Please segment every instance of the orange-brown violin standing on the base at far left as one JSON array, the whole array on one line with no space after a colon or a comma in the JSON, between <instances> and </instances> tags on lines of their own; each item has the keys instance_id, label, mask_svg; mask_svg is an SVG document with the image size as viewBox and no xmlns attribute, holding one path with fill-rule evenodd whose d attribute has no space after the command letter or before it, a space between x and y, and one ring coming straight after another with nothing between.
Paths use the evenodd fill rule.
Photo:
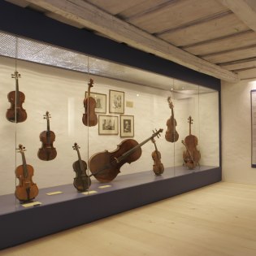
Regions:
<instances>
[{"instance_id":1,"label":"orange-brown violin standing on the base at far left","mask_svg":"<svg viewBox=\"0 0 256 256\"><path fill-rule=\"evenodd\" d=\"M15 197L20 200L20 202L28 202L37 197L38 188L37 184L33 183L32 176L34 174L34 169L31 165L26 163L25 158L25 148L23 145L19 145L19 152L22 156L22 165L18 166L15 170L15 175L19 179L19 184L15 189Z\"/></svg>"}]
</instances>

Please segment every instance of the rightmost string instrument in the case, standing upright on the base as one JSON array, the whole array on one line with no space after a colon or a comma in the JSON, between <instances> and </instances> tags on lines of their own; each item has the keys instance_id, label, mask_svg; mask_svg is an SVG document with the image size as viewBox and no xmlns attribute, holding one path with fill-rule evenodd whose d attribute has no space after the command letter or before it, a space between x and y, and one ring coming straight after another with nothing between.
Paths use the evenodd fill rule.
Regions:
<instances>
[{"instance_id":1,"label":"rightmost string instrument in the case, standing upright on the base","mask_svg":"<svg viewBox=\"0 0 256 256\"><path fill-rule=\"evenodd\" d=\"M197 150L198 139L196 136L191 134L191 124L193 124L191 116L189 116L188 122L189 136L185 137L184 141L181 142L186 148L183 152L184 166L188 167L189 170L193 170L197 165L199 165L201 154L200 151Z\"/></svg>"}]
</instances>

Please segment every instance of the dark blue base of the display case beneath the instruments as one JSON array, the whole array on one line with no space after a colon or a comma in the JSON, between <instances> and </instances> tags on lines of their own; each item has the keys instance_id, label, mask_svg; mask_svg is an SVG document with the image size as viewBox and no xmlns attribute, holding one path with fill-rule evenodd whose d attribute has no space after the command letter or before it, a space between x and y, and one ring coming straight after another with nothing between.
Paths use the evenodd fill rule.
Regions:
<instances>
[{"instance_id":1,"label":"dark blue base of the display case beneath the instruments","mask_svg":"<svg viewBox=\"0 0 256 256\"><path fill-rule=\"evenodd\" d=\"M0 197L0 249L115 215L161 199L197 189L221 180L220 167L200 167L189 171L184 167L167 168L162 176L153 171L117 176L108 185L93 181L85 195L72 184L40 189L37 202L41 206L24 208L14 194ZM56 195L46 193L62 191Z\"/></svg>"}]
</instances>

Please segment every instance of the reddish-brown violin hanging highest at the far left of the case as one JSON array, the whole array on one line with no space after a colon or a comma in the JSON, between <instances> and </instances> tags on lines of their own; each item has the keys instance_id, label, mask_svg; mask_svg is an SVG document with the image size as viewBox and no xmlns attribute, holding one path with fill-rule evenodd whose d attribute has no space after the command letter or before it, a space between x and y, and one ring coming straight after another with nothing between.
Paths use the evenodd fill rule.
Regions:
<instances>
[{"instance_id":1,"label":"reddish-brown violin hanging highest at the far left of the case","mask_svg":"<svg viewBox=\"0 0 256 256\"><path fill-rule=\"evenodd\" d=\"M13 123L21 123L27 119L27 112L22 107L25 101L25 94L19 90L19 72L11 74L12 78L15 78L15 91L8 93L7 98L11 103L11 107L7 109L7 120Z\"/></svg>"}]
</instances>

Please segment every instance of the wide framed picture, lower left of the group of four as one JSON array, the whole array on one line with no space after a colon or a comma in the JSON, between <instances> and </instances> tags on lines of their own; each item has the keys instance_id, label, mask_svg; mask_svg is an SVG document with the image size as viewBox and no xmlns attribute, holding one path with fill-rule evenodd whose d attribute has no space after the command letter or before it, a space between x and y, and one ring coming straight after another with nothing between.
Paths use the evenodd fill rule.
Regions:
<instances>
[{"instance_id":1,"label":"wide framed picture, lower left of the group of four","mask_svg":"<svg viewBox=\"0 0 256 256\"><path fill-rule=\"evenodd\" d=\"M98 134L117 135L119 133L118 116L98 115Z\"/></svg>"}]
</instances>

